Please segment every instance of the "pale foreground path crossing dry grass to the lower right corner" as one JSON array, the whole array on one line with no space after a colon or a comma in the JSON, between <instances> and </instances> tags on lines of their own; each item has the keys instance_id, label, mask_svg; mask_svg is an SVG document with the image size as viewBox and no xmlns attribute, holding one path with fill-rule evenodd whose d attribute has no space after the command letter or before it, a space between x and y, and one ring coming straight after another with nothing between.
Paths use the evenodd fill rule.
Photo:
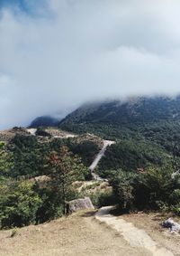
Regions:
<instances>
[{"instance_id":1,"label":"pale foreground path crossing dry grass to the lower right corner","mask_svg":"<svg viewBox=\"0 0 180 256\"><path fill-rule=\"evenodd\" d=\"M98 221L106 223L111 226L113 230L120 232L125 241L129 242L132 248L146 249L151 252L153 256L174 256L171 251L165 247L159 247L157 242L154 242L148 233L128 223L122 218L117 218L109 212L112 206L103 207L96 213L95 217Z\"/></svg>"}]
</instances>

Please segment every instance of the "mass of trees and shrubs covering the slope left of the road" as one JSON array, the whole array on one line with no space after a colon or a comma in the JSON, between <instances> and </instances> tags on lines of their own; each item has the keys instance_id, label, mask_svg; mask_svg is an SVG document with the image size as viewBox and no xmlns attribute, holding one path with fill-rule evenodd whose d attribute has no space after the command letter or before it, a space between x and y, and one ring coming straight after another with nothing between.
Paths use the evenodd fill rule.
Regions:
<instances>
[{"instance_id":1,"label":"mass of trees and shrubs covering the slope left of the road","mask_svg":"<svg viewBox=\"0 0 180 256\"><path fill-rule=\"evenodd\" d=\"M78 195L72 183L91 178L67 145L81 152L70 139L42 142L17 135L9 144L0 144L1 228L41 223L66 212L66 202ZM33 178L37 176L39 182Z\"/></svg>"}]
</instances>

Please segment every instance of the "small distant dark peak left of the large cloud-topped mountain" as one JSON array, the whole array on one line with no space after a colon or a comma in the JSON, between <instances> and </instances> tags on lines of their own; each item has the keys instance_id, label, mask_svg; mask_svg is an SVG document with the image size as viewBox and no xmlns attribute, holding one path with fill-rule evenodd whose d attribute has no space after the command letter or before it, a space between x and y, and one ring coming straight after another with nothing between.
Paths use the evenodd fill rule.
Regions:
<instances>
[{"instance_id":1,"label":"small distant dark peak left of the large cloud-topped mountain","mask_svg":"<svg viewBox=\"0 0 180 256\"><path fill-rule=\"evenodd\" d=\"M58 119L54 119L50 116L41 116L32 120L29 128L39 128L39 127L56 127L58 126Z\"/></svg>"}]
</instances>

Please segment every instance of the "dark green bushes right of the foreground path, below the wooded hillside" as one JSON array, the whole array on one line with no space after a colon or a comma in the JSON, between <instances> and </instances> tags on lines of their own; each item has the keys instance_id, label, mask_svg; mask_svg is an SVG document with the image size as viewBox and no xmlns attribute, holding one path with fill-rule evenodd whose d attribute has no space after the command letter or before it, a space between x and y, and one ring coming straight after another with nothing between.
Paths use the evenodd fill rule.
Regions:
<instances>
[{"instance_id":1,"label":"dark green bushes right of the foreground path, below the wooded hillside","mask_svg":"<svg viewBox=\"0 0 180 256\"><path fill-rule=\"evenodd\" d=\"M168 166L150 167L142 174L111 171L109 178L121 210L176 209L178 212L179 176L173 178L172 170Z\"/></svg>"}]
</instances>

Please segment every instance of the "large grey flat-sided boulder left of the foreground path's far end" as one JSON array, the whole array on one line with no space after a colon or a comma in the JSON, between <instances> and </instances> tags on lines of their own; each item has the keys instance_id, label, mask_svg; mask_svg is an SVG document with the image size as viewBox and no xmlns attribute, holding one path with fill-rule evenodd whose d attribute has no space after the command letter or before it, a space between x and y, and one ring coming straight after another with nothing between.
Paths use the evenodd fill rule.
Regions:
<instances>
[{"instance_id":1,"label":"large grey flat-sided boulder left of the foreground path's far end","mask_svg":"<svg viewBox=\"0 0 180 256\"><path fill-rule=\"evenodd\" d=\"M94 205L89 197L79 198L68 202L68 213L76 213L84 209L94 209Z\"/></svg>"}]
</instances>

